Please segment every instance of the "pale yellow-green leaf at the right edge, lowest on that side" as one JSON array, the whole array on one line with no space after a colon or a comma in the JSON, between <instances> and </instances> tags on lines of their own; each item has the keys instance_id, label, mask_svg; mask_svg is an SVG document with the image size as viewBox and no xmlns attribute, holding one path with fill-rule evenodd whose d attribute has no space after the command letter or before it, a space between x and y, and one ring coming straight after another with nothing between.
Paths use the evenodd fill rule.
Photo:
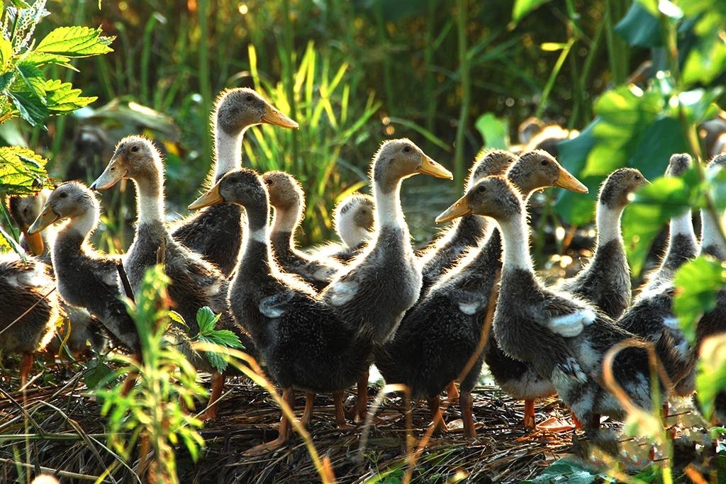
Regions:
<instances>
[{"instance_id":1,"label":"pale yellow-green leaf at the right edge, lowest on that side","mask_svg":"<svg viewBox=\"0 0 726 484\"><path fill-rule=\"evenodd\" d=\"M726 390L726 335L715 335L701 344L696 375L696 396L706 419L711 419L714 400L723 390Z\"/></svg>"}]
</instances>

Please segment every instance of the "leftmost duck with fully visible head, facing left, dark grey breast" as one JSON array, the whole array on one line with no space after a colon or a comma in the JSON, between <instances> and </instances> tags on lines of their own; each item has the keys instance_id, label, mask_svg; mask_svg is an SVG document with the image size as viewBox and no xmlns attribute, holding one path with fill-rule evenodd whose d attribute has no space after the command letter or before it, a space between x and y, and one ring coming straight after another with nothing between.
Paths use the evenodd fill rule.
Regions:
<instances>
[{"instance_id":1,"label":"leftmost duck with fully visible head, facing left, dark grey breast","mask_svg":"<svg viewBox=\"0 0 726 484\"><path fill-rule=\"evenodd\" d=\"M68 219L57 232L51 257L58 292L66 303L86 308L107 330L115 343L131 352L139 350L139 335L126 312L118 286L120 258L98 253L89 244L97 228L99 203L85 185L60 184L48 197L28 232L37 234L56 221Z\"/></svg>"}]
</instances>

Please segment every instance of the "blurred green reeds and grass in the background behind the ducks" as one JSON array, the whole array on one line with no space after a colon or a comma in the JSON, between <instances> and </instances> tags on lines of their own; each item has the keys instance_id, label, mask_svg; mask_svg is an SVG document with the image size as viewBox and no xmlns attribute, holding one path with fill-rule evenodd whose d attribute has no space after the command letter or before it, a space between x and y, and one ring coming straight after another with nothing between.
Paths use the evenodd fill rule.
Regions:
<instances>
[{"instance_id":1,"label":"blurred green reeds and grass in the background behind the ducks","mask_svg":"<svg viewBox=\"0 0 726 484\"><path fill-rule=\"evenodd\" d=\"M2 125L1 135L48 157L56 179L89 181L121 136L144 132L166 149L170 213L185 213L210 166L213 99L225 87L256 86L301 130L253 128L243 163L260 171L285 168L301 179L309 199L301 245L331 237L330 209L364 186L380 141L400 136L456 176L454 184L420 180L404 189L412 232L423 243L435 230L433 216L457 196L482 147L514 144L519 124L532 115L582 130L603 93L624 85L642 62L667 60L657 12L650 15L654 28L643 21L647 1L516 3L524 10L513 17L513 3L505 0L126 0L100 6L49 0L38 38L59 25L100 26L116 37L114 52L76 62L79 72L60 73L99 99L73 116L50 118L47 131L31 131L21 121ZM716 22L726 18L719 2L706 4L719 15ZM616 31L633 10L641 15L635 27ZM680 22L679 29L679 43L693 44L693 22ZM724 81L717 72L691 85L713 88ZM714 89L708 102L723 104L722 91ZM571 149L563 163L576 174L587 171L590 148L579 147L578 156ZM666 163L656 153L637 164L662 173ZM607 174L601 172L590 166L585 173L591 188ZM124 250L134 204L124 202L128 193L105 197L115 200L104 200L102 247ZM592 218L592 197L577 205L582 213L566 202L558 216L576 223Z\"/></svg>"}]
</instances>

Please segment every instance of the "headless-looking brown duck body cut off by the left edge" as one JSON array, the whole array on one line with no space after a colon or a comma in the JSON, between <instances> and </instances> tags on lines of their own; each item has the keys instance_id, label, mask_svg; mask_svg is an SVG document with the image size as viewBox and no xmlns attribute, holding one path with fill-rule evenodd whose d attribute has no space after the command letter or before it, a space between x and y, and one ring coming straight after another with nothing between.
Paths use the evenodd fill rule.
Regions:
<instances>
[{"instance_id":1,"label":"headless-looking brown duck body cut off by the left edge","mask_svg":"<svg viewBox=\"0 0 726 484\"><path fill-rule=\"evenodd\" d=\"M49 267L37 258L0 255L0 350L23 353L20 387L28 382L33 353L53 337L58 298Z\"/></svg>"}]
</instances>

